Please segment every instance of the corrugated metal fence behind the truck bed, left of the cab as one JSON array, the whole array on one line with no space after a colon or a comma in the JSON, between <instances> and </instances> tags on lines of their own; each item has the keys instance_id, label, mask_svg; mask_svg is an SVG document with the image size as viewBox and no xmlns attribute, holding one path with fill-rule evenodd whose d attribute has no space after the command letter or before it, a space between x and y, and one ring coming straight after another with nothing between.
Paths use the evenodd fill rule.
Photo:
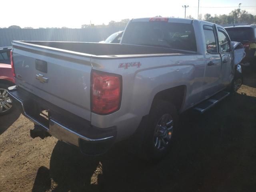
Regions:
<instances>
[{"instance_id":1,"label":"corrugated metal fence behind the truck bed, left of the cab","mask_svg":"<svg viewBox=\"0 0 256 192\"><path fill-rule=\"evenodd\" d=\"M99 42L124 27L85 29L0 29L0 47L12 46L12 40Z\"/></svg>"}]
</instances>

